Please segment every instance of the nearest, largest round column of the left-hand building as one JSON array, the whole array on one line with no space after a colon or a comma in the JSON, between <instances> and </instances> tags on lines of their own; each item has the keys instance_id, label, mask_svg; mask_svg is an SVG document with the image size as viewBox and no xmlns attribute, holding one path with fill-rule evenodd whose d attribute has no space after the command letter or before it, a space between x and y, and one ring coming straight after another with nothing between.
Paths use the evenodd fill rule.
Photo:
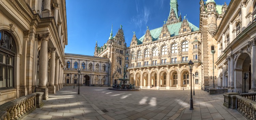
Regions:
<instances>
[{"instance_id":1,"label":"nearest, largest round column of the left-hand building","mask_svg":"<svg viewBox=\"0 0 256 120\"><path fill-rule=\"evenodd\" d=\"M47 1L47 0L46 0ZM50 39L49 33L43 33L38 35L38 39L41 41L41 49L39 56L39 85L36 89L37 92L44 92L43 100L48 99L48 88L46 86L47 81L47 62L48 62L48 41Z\"/></svg>"}]
</instances>

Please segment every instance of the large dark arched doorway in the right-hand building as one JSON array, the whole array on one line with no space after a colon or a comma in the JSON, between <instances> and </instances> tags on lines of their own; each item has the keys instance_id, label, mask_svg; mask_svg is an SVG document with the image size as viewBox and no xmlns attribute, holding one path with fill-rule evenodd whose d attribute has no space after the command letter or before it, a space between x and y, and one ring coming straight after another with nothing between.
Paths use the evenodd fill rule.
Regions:
<instances>
[{"instance_id":1,"label":"large dark arched doorway in the right-hand building","mask_svg":"<svg viewBox=\"0 0 256 120\"><path fill-rule=\"evenodd\" d=\"M251 89L251 57L247 53L242 53L237 58L234 78L236 82L236 91L248 92ZM244 73L248 78L244 81Z\"/></svg>"}]
</instances>

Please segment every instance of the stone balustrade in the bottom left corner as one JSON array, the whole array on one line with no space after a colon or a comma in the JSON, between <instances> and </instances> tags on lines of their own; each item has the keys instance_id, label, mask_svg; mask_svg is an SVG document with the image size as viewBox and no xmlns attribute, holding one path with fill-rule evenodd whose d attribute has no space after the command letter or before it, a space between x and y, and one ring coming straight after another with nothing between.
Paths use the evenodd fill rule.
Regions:
<instances>
[{"instance_id":1,"label":"stone balustrade in the bottom left corner","mask_svg":"<svg viewBox=\"0 0 256 120\"><path fill-rule=\"evenodd\" d=\"M18 120L33 111L35 107L42 107L43 94L43 92L34 92L2 104L0 106L1 120Z\"/></svg>"}]
</instances>

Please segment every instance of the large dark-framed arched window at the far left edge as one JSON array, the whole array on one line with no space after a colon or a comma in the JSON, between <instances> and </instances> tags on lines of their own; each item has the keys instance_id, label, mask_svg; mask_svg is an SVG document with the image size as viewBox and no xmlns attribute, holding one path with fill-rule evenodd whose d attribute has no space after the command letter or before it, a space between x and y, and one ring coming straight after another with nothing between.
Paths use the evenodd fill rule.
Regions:
<instances>
[{"instance_id":1,"label":"large dark-framed arched window at the far left edge","mask_svg":"<svg viewBox=\"0 0 256 120\"><path fill-rule=\"evenodd\" d=\"M16 52L13 37L0 31L0 89L14 87L14 55Z\"/></svg>"}]
</instances>

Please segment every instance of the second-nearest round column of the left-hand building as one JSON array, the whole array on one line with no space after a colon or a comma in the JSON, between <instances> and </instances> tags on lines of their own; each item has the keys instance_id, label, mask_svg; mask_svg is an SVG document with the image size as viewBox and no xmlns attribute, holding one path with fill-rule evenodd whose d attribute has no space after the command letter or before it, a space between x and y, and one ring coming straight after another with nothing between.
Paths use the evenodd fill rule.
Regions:
<instances>
[{"instance_id":1,"label":"second-nearest round column of the left-hand building","mask_svg":"<svg viewBox=\"0 0 256 120\"><path fill-rule=\"evenodd\" d=\"M49 93L55 93L55 86L54 86L54 75L55 75L55 52L56 48L49 48L49 52L51 53L50 59L50 75L49 75Z\"/></svg>"}]
</instances>

